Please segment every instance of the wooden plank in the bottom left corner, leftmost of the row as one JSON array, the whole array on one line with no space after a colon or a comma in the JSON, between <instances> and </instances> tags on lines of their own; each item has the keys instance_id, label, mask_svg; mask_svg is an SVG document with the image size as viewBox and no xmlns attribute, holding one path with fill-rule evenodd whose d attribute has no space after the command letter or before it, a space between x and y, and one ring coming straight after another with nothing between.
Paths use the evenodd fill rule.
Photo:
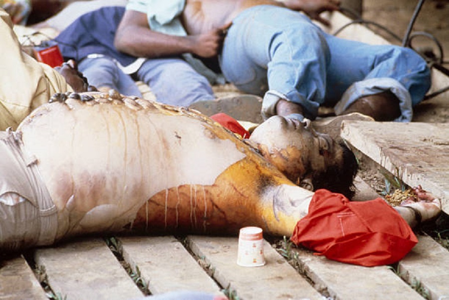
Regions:
<instances>
[{"instance_id":1,"label":"wooden plank in the bottom left corner, leftmost of the row","mask_svg":"<svg viewBox=\"0 0 449 300\"><path fill-rule=\"evenodd\" d=\"M1 300L48 300L22 256L0 261Z\"/></svg>"}]
</instances>

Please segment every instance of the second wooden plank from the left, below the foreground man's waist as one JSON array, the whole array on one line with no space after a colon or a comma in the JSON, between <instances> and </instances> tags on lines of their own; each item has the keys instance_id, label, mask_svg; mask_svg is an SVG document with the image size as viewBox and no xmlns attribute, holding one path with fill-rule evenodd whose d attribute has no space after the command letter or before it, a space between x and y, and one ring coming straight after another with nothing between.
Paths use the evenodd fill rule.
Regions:
<instances>
[{"instance_id":1,"label":"second wooden plank from the left, below the foreground man's waist","mask_svg":"<svg viewBox=\"0 0 449 300\"><path fill-rule=\"evenodd\" d=\"M54 293L70 300L133 299L143 294L101 239L83 239L37 249Z\"/></svg>"}]
</instances>

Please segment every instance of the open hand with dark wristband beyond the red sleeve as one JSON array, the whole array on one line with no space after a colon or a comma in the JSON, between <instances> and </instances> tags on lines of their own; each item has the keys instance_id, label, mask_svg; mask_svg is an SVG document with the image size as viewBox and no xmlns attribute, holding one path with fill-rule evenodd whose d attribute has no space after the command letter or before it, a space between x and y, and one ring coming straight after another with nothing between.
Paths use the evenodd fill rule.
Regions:
<instances>
[{"instance_id":1,"label":"open hand with dark wristband beyond the red sleeve","mask_svg":"<svg viewBox=\"0 0 449 300\"><path fill-rule=\"evenodd\" d=\"M421 186L414 187L415 197L410 197L395 209L413 228L422 222L435 220L441 213L441 200Z\"/></svg>"}]
</instances>

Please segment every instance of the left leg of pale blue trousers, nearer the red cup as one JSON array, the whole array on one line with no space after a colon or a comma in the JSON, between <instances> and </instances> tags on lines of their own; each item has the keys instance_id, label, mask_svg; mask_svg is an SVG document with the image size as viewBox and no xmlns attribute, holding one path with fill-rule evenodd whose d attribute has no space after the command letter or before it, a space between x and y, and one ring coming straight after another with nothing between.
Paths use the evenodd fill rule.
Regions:
<instances>
[{"instance_id":1,"label":"left leg of pale blue trousers, nearer the red cup","mask_svg":"<svg viewBox=\"0 0 449 300\"><path fill-rule=\"evenodd\" d=\"M123 73L110 58L85 58L78 65L78 70L83 73L90 85L115 89L125 96L142 97L131 76Z\"/></svg>"}]
</instances>

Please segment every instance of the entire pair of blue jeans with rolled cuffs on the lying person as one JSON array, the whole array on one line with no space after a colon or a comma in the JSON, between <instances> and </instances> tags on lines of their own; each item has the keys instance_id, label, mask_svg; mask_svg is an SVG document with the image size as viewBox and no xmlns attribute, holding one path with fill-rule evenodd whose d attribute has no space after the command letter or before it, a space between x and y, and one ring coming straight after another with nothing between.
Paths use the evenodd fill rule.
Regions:
<instances>
[{"instance_id":1,"label":"entire pair of blue jeans with rolled cuffs on the lying person","mask_svg":"<svg viewBox=\"0 0 449 300\"><path fill-rule=\"evenodd\" d=\"M398 121L410 121L412 106L430 88L430 70L413 50L338 38L300 12L271 5L248 8L232 21L220 63L238 89L274 91L301 104L310 119L322 104L342 100L344 110L361 96L391 90L401 102Z\"/></svg>"}]
</instances>

